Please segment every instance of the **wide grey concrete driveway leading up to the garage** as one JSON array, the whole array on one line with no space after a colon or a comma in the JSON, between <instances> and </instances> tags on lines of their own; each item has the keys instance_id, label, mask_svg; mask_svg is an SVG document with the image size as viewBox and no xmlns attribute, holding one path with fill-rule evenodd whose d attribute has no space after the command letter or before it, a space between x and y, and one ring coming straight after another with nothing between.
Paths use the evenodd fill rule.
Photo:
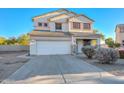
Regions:
<instances>
[{"instance_id":1,"label":"wide grey concrete driveway leading up to the garage","mask_svg":"<svg viewBox=\"0 0 124 93\"><path fill-rule=\"evenodd\" d=\"M2 83L102 84L124 83L82 59L71 55L36 56Z\"/></svg>"}]
</instances>

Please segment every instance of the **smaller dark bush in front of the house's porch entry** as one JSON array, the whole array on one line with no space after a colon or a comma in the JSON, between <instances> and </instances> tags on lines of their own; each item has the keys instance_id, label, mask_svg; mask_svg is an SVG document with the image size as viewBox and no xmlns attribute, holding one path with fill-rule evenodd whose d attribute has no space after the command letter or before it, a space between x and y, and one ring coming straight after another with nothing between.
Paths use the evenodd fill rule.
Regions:
<instances>
[{"instance_id":1,"label":"smaller dark bush in front of the house's porch entry","mask_svg":"<svg viewBox=\"0 0 124 93\"><path fill-rule=\"evenodd\" d=\"M95 55L95 48L93 46L83 46L82 52L89 58L92 59Z\"/></svg>"}]
</instances>

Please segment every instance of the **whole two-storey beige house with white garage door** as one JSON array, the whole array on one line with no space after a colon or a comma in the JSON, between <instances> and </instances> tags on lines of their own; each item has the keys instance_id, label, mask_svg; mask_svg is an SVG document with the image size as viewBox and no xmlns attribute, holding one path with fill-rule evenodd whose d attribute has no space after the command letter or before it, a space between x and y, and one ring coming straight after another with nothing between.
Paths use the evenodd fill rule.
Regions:
<instances>
[{"instance_id":1,"label":"whole two-storey beige house with white garage door","mask_svg":"<svg viewBox=\"0 0 124 93\"><path fill-rule=\"evenodd\" d=\"M66 9L35 16L29 33L31 55L81 53L85 45L100 45L100 35L93 33L93 20Z\"/></svg>"}]
</instances>

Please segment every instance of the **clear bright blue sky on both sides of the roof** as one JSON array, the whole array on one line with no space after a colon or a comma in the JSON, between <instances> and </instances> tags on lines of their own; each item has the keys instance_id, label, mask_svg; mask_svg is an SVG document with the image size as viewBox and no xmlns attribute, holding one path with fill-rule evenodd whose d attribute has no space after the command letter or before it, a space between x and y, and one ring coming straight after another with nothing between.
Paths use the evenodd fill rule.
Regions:
<instances>
[{"instance_id":1,"label":"clear bright blue sky on both sides of the roof","mask_svg":"<svg viewBox=\"0 0 124 93\"><path fill-rule=\"evenodd\" d=\"M28 33L33 29L32 17L57 10L57 8L1 8L0 36L13 37ZM114 38L116 24L124 23L124 9L119 8L68 8L73 12L85 14L95 20L94 29L106 37Z\"/></svg>"}]
</instances>

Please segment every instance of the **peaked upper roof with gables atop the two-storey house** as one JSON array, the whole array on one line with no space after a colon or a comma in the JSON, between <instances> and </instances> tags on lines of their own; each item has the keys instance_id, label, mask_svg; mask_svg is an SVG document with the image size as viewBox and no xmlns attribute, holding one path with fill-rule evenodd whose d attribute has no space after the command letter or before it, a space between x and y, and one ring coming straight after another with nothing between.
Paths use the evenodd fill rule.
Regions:
<instances>
[{"instance_id":1,"label":"peaked upper roof with gables atop the two-storey house","mask_svg":"<svg viewBox=\"0 0 124 93\"><path fill-rule=\"evenodd\" d=\"M66 20L66 21L75 21L75 22L84 22L84 23L92 23L94 22L92 19L85 15L78 15L74 12L68 11L66 9L59 9L53 12L49 12L46 14L42 14L40 16L36 16L33 18L33 21L39 22L48 22L48 21L58 21L58 20Z\"/></svg>"}]
</instances>

